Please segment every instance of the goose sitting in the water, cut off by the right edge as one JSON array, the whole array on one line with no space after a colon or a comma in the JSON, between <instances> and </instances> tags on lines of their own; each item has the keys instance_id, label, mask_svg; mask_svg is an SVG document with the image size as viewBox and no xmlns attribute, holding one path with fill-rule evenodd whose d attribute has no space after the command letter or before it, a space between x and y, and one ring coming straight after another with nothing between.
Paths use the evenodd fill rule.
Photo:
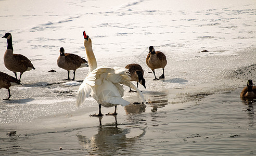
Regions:
<instances>
[{"instance_id":1,"label":"goose sitting in the water, cut off by the right edge","mask_svg":"<svg viewBox=\"0 0 256 156\"><path fill-rule=\"evenodd\" d=\"M256 86L253 86L252 80L248 80L247 86L240 93L242 99L256 99Z\"/></svg>"}]
</instances>

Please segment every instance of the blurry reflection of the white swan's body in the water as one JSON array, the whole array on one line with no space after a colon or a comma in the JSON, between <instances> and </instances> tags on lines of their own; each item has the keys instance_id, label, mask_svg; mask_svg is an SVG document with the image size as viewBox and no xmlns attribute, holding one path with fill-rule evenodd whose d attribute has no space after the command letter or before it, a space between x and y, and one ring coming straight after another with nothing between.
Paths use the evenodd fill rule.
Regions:
<instances>
[{"instance_id":1,"label":"blurry reflection of the white swan's body in the water","mask_svg":"<svg viewBox=\"0 0 256 156\"><path fill-rule=\"evenodd\" d=\"M145 128L119 128L117 126L100 126L94 136L77 134L80 144L86 148L89 155L113 155L122 151L130 151L136 155L137 140L144 136Z\"/></svg>"}]
</instances>

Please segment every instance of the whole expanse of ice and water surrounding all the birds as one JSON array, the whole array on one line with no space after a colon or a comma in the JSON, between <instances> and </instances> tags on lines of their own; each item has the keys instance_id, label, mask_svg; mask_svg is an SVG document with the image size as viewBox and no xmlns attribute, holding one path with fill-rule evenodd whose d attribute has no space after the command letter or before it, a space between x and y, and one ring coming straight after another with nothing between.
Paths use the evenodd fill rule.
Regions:
<instances>
[{"instance_id":1,"label":"whole expanse of ice and water surrounding all the birds","mask_svg":"<svg viewBox=\"0 0 256 156\"><path fill-rule=\"evenodd\" d=\"M242 101L239 94L248 79L256 82L255 5L233 0L0 1L0 34L11 32L15 53L36 68L22 75L22 85L10 88L9 100L2 100L8 92L0 89L0 153L253 155L255 101ZM93 98L75 107L88 68L76 71L76 81L62 81L67 71L56 61L60 47L85 57L84 30L98 66L143 67L147 88L138 88L147 105L118 107L117 118L105 115L101 126L100 119L89 118L98 111ZM145 63L150 45L167 56L165 80L152 81ZM3 58L5 38L0 50ZM0 70L14 76L3 59ZM157 76L161 73L156 70ZM141 102L128 90L125 100ZM10 131L16 135L7 135Z\"/></svg>"}]
</instances>

